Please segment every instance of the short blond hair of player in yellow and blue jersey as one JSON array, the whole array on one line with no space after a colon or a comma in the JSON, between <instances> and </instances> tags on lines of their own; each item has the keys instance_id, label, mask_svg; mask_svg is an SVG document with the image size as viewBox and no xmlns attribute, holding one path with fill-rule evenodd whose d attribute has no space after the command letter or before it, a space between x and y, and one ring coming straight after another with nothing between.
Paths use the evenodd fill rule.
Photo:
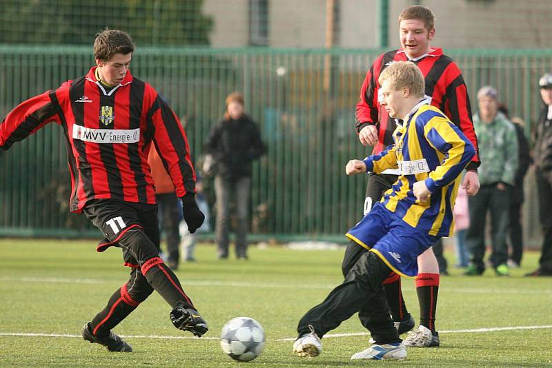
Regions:
<instances>
[{"instance_id":1,"label":"short blond hair of player in yellow and blue jersey","mask_svg":"<svg viewBox=\"0 0 552 368\"><path fill-rule=\"evenodd\" d=\"M424 74L412 61L395 61L384 69L377 80L380 85L388 81L393 90L408 88L415 97L423 97L425 92Z\"/></svg>"}]
</instances>

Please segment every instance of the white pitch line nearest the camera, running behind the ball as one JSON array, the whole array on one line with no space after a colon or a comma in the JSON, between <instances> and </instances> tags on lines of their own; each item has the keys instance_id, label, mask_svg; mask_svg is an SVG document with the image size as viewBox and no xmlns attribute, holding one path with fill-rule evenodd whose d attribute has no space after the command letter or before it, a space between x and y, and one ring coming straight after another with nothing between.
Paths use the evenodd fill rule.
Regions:
<instances>
[{"instance_id":1,"label":"white pitch line nearest the camera, running behind the ball","mask_svg":"<svg viewBox=\"0 0 552 368\"><path fill-rule=\"evenodd\" d=\"M441 330L440 334L460 334L460 333L478 333L478 332L492 332L492 331L513 331L517 329L551 329L552 325L542 326L511 326L511 327L489 327L480 329L451 329ZM324 338L340 338L348 336L367 336L367 332L353 332L351 334L327 334ZM61 337L61 338L81 338L80 335L71 334L40 334L37 332L0 332L0 336L22 336L22 337ZM157 338L161 340L218 340L219 337L202 337L197 338L193 336L159 336L159 335L121 335L124 338ZM277 338L273 341L293 341L295 338Z\"/></svg>"}]
</instances>

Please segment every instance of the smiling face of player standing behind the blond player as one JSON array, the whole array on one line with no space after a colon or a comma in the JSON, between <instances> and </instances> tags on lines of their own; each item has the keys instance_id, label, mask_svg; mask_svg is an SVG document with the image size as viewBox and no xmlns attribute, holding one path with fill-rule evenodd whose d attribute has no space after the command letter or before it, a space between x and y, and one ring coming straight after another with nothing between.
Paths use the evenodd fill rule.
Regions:
<instances>
[{"instance_id":1,"label":"smiling face of player standing behind the blond player","mask_svg":"<svg viewBox=\"0 0 552 368\"><path fill-rule=\"evenodd\" d=\"M410 59L415 59L430 50L429 42L435 35L435 28L428 30L420 19L404 19L399 23L401 46Z\"/></svg>"}]
</instances>

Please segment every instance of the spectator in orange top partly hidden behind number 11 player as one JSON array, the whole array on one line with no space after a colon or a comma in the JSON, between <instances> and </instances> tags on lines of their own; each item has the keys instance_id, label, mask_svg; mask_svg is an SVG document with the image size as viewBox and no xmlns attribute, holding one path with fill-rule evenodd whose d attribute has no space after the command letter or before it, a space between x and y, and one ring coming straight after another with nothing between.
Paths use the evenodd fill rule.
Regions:
<instances>
[{"instance_id":1,"label":"spectator in orange top partly hidden behind number 11 player","mask_svg":"<svg viewBox=\"0 0 552 368\"><path fill-rule=\"evenodd\" d=\"M148 164L151 167L151 175L155 185L155 199L159 203L159 227L164 232L167 243L167 264L168 267L176 270L178 269L178 245L180 243L178 224L181 218L178 197L163 161L161 161L161 157L155 150L155 145L151 146Z\"/></svg>"}]
</instances>

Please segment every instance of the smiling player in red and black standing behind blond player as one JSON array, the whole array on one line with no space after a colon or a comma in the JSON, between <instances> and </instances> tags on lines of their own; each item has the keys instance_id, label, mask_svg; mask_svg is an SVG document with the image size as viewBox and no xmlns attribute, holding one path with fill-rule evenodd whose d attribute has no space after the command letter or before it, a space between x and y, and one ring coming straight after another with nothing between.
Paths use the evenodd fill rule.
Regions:
<instances>
[{"instance_id":1,"label":"smiling player in red and black standing behind blond player","mask_svg":"<svg viewBox=\"0 0 552 368\"><path fill-rule=\"evenodd\" d=\"M388 145L393 144L392 134L397 125L380 104L378 78L394 61L412 61L420 68L425 79L426 98L430 99L431 105L442 110L457 127L460 127L477 152L477 137L473 130L471 107L462 73L454 61L444 55L440 48L432 48L430 45L435 34L434 20L431 10L423 6L409 6L404 9L399 17L402 48L382 54L366 74L357 103L355 127L360 142L363 145L373 146L372 154L379 154ZM477 177L479 163L479 156L475 154L466 167L462 186L471 195L475 195L479 190ZM397 174L399 174L397 170L386 170L382 174L368 176L365 212L371 209L373 203L380 201L382 194L397 181ZM437 248L438 245L441 248ZM435 245L435 249L437 252L437 249L442 249L442 245ZM426 338L422 339L426 345L413 343L411 340L417 340L420 329L427 332L420 327L413 336L406 339L405 343L409 346L438 346L435 309L440 271L431 248L418 258L418 264L420 273L416 279L416 287L420 301L420 325L431 331L433 337L431 334L429 336L426 334ZM396 325L404 324L411 328L412 325L409 322L411 316L404 305L400 278L391 277L385 281L385 285L388 305Z\"/></svg>"}]
</instances>

